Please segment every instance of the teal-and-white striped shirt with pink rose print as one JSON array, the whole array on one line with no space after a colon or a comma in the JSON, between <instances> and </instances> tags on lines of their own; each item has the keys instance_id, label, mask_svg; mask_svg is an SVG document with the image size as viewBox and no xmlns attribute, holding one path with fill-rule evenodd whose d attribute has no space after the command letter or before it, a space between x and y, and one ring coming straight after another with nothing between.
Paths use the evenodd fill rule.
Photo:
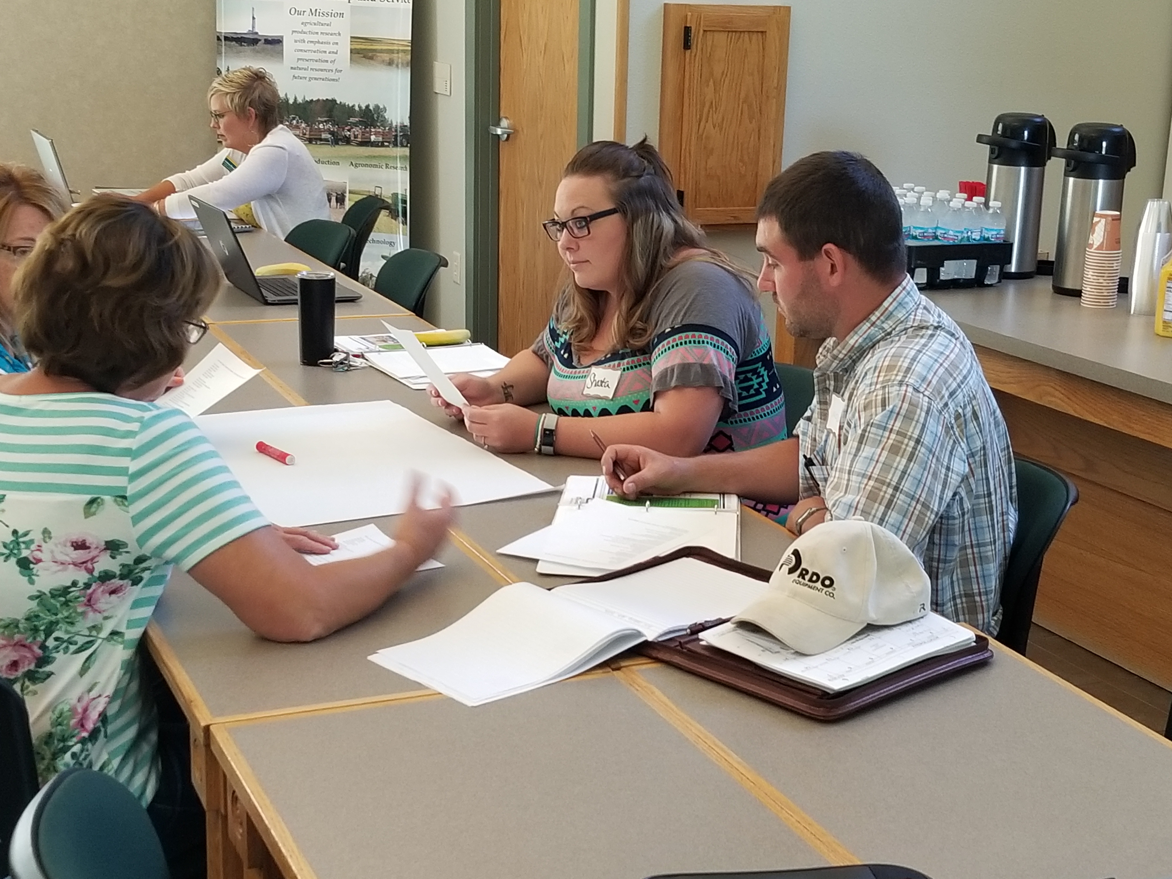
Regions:
<instances>
[{"instance_id":1,"label":"teal-and-white striped shirt with pink rose print","mask_svg":"<svg viewBox=\"0 0 1172 879\"><path fill-rule=\"evenodd\" d=\"M150 802L143 629L172 565L266 524L176 409L0 394L0 675L25 697L42 783L89 766Z\"/></svg>"}]
</instances>

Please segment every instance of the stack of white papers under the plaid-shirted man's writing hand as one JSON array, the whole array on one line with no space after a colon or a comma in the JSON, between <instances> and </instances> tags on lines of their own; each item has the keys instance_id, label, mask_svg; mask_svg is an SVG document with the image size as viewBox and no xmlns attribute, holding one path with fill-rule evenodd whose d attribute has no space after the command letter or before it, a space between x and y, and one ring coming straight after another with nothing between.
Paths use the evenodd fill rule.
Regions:
<instances>
[{"instance_id":1,"label":"stack of white papers under the plaid-shirted man's writing hand","mask_svg":"<svg viewBox=\"0 0 1172 879\"><path fill-rule=\"evenodd\" d=\"M735 495L690 495L625 502L606 479L566 479L553 523L498 552L537 559L538 573L597 577L681 546L706 546L740 558Z\"/></svg>"}]
</instances>

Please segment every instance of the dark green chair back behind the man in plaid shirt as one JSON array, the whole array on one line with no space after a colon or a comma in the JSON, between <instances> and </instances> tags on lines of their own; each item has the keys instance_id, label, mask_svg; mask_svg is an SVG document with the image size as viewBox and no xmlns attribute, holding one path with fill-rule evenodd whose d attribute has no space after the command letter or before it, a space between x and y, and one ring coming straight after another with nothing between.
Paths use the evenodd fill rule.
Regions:
<instances>
[{"instance_id":1,"label":"dark green chair back behind the man in plaid shirt","mask_svg":"<svg viewBox=\"0 0 1172 879\"><path fill-rule=\"evenodd\" d=\"M1014 465L1017 472L1017 530L1001 581L997 640L1024 655L1042 559L1067 512L1078 502L1078 489L1045 464L1015 455Z\"/></svg>"}]
</instances>

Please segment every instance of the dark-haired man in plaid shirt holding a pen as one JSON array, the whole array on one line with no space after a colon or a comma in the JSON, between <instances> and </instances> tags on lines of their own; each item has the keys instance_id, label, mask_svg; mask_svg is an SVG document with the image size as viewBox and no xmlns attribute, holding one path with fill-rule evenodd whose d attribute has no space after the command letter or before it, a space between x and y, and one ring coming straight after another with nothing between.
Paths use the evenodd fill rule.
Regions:
<instances>
[{"instance_id":1,"label":"dark-haired man in plaid shirt holding a pen","mask_svg":"<svg viewBox=\"0 0 1172 879\"><path fill-rule=\"evenodd\" d=\"M973 346L907 277L891 185L860 155L806 156L766 186L757 250L757 285L790 334L826 339L797 436L696 458L615 445L602 458L612 488L793 504L799 534L827 518L877 523L924 564L933 611L995 634L1017 523L1009 435Z\"/></svg>"}]
</instances>

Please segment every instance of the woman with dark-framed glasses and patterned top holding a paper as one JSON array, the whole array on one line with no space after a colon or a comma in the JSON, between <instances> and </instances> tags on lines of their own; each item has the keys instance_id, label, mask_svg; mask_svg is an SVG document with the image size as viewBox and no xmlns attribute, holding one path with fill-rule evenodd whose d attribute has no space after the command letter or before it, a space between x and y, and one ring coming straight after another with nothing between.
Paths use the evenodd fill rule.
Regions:
<instances>
[{"instance_id":1,"label":"woman with dark-framed glasses and patterned top holding a paper","mask_svg":"<svg viewBox=\"0 0 1172 879\"><path fill-rule=\"evenodd\" d=\"M591 431L605 445L677 456L785 438L785 400L752 275L683 216L646 138L579 150L544 226L568 270L548 326L492 377L454 377L466 413L429 391L464 418L475 442L598 458ZM525 407L546 401L559 417L543 423Z\"/></svg>"}]
</instances>

